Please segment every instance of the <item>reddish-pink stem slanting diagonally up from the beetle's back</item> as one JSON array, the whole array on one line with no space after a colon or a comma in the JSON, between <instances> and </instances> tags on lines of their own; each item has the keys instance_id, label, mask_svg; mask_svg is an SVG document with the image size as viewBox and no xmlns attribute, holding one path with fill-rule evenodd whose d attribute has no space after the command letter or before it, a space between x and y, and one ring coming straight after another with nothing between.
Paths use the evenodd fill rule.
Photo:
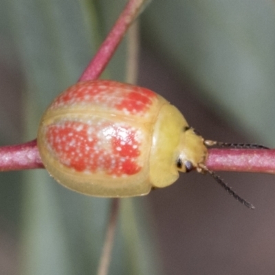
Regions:
<instances>
[{"instance_id":1,"label":"reddish-pink stem slanting diagonally up from the beetle's back","mask_svg":"<svg viewBox=\"0 0 275 275\"><path fill-rule=\"evenodd\" d=\"M96 53L96 56L91 60L82 76L80 76L78 81L85 80L95 80L99 78L100 74L102 74L104 68L109 63L111 57L113 56L116 48L120 44L126 30L128 30L129 26L135 20L140 8L144 0L130 0L120 17L113 25L113 28L109 32L107 38L104 40L100 49Z\"/></svg>"}]
</instances>

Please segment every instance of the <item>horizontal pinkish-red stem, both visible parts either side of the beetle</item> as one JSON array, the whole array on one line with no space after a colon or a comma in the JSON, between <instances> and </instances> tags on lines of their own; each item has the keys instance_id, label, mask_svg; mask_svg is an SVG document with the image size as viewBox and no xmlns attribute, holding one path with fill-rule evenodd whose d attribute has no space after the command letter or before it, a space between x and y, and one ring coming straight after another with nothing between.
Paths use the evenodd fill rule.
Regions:
<instances>
[{"instance_id":1,"label":"horizontal pinkish-red stem, both visible parts either side of the beetle","mask_svg":"<svg viewBox=\"0 0 275 275\"><path fill-rule=\"evenodd\" d=\"M214 171L275 174L275 149L209 149L206 166ZM0 171L44 168L36 140L0 148Z\"/></svg>"}]
</instances>

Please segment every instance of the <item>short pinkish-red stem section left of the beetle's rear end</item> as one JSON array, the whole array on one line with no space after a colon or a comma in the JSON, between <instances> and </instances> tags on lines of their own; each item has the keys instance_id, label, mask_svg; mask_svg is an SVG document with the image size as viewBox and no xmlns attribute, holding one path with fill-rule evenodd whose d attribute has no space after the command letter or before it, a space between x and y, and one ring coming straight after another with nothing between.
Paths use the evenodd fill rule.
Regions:
<instances>
[{"instance_id":1,"label":"short pinkish-red stem section left of the beetle's rear end","mask_svg":"<svg viewBox=\"0 0 275 275\"><path fill-rule=\"evenodd\" d=\"M0 147L0 171L44 168L36 140Z\"/></svg>"}]
</instances>

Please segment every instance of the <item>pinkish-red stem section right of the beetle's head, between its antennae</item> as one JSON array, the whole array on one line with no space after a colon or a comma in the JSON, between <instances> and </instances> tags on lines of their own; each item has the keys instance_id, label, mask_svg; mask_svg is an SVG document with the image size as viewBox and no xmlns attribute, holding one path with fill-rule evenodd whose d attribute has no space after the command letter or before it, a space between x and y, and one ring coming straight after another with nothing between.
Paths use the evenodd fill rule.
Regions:
<instances>
[{"instance_id":1,"label":"pinkish-red stem section right of the beetle's head, between its antennae","mask_svg":"<svg viewBox=\"0 0 275 275\"><path fill-rule=\"evenodd\" d=\"M210 170L275 174L275 149L209 150L206 166Z\"/></svg>"}]
</instances>

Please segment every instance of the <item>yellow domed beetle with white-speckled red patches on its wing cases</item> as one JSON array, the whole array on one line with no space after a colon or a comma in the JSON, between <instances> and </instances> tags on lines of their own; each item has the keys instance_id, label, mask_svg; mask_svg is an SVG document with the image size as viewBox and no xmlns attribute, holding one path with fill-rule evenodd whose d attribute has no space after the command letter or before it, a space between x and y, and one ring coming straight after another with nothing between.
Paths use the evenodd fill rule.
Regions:
<instances>
[{"instance_id":1,"label":"yellow domed beetle with white-speckled red patches on its wing cases","mask_svg":"<svg viewBox=\"0 0 275 275\"><path fill-rule=\"evenodd\" d=\"M179 171L208 172L208 149L181 112L154 91L112 80L79 82L45 111L37 137L47 171L63 186L98 197L146 195Z\"/></svg>"}]
</instances>

